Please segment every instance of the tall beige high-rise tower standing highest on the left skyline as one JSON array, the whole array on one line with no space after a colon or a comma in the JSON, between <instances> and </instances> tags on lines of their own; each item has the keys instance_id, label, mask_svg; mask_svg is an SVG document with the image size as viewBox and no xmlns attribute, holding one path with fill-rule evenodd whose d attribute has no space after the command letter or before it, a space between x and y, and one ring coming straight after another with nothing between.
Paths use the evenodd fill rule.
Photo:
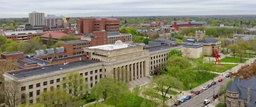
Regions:
<instances>
[{"instance_id":1,"label":"tall beige high-rise tower standing highest on the left skyline","mask_svg":"<svg viewBox=\"0 0 256 107\"><path fill-rule=\"evenodd\" d=\"M39 13L39 12L31 12L29 13L29 24L31 26L44 26L45 25L45 20L44 20L44 13Z\"/></svg>"}]
</instances>

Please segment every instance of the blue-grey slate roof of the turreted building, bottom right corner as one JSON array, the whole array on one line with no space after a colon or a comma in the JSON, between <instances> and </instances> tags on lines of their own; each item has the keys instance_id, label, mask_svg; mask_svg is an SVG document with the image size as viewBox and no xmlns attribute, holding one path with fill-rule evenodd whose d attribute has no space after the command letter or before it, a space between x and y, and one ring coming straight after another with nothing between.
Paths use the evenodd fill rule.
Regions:
<instances>
[{"instance_id":1,"label":"blue-grey slate roof of the turreted building, bottom right corner","mask_svg":"<svg viewBox=\"0 0 256 107\"><path fill-rule=\"evenodd\" d=\"M254 107L256 102L256 77L252 77L248 80L246 79L238 79L235 78L229 86L227 87L227 90L229 91L239 91L238 98L241 100L247 101L247 89L250 88L250 96L251 99L248 104L249 107Z\"/></svg>"}]
</instances>

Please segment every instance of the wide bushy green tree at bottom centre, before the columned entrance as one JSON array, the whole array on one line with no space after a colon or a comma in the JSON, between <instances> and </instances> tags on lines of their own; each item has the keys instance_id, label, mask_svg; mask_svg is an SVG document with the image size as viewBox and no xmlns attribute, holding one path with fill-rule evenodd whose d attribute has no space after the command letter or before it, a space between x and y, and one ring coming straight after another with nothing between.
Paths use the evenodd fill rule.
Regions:
<instances>
[{"instance_id":1,"label":"wide bushy green tree at bottom centre, before the columned entrance","mask_svg":"<svg viewBox=\"0 0 256 107\"><path fill-rule=\"evenodd\" d=\"M107 98L113 99L115 104L118 98L122 97L124 94L130 92L127 84L124 81L114 80L112 78L105 77L99 81L91 89L91 94L96 98Z\"/></svg>"}]
</instances>

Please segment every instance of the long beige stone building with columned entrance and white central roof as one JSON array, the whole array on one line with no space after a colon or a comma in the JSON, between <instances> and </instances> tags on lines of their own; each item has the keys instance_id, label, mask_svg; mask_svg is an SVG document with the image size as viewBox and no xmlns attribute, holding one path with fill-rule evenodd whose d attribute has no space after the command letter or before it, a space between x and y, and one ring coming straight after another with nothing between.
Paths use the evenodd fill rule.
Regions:
<instances>
[{"instance_id":1,"label":"long beige stone building with columned entrance and white central roof","mask_svg":"<svg viewBox=\"0 0 256 107\"><path fill-rule=\"evenodd\" d=\"M59 88L60 82L69 72L77 72L84 77L89 88L101 78L111 77L125 80L131 87L146 83L155 68L167 61L167 54L180 50L177 45L159 45L143 47L141 45L123 44L118 40L114 45L92 46L84 48L85 57L77 57L77 62L70 62L70 57L57 60L66 64L51 64L40 67L5 72L5 81L12 80L19 84L19 95L22 103L36 103L44 91ZM51 59L49 62L55 61ZM63 87L61 87L63 88ZM68 92L68 89L67 89Z\"/></svg>"}]
</instances>

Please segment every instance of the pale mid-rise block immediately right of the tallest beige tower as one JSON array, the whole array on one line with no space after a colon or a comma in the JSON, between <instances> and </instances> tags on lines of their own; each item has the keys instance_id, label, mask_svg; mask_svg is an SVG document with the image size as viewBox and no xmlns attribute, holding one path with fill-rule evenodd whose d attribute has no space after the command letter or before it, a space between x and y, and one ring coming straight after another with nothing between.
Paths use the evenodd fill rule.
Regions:
<instances>
[{"instance_id":1,"label":"pale mid-rise block immediately right of the tallest beige tower","mask_svg":"<svg viewBox=\"0 0 256 107\"><path fill-rule=\"evenodd\" d=\"M56 17L55 15L47 15L45 17L45 25L48 27L57 27L58 26L58 20L62 20L64 18L63 16Z\"/></svg>"}]
</instances>

